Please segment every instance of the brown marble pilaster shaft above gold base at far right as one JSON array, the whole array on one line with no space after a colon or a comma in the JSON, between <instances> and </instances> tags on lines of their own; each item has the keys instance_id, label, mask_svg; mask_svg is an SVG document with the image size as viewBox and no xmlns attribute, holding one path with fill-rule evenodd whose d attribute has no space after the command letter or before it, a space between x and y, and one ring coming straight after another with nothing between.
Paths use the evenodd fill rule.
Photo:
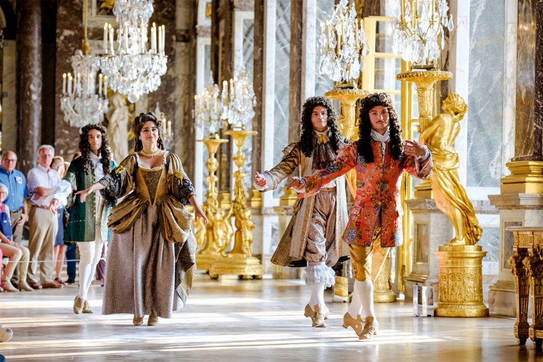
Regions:
<instances>
[{"instance_id":1,"label":"brown marble pilaster shaft above gold base at far right","mask_svg":"<svg viewBox=\"0 0 543 362\"><path fill-rule=\"evenodd\" d=\"M517 7L515 159L532 154L534 145L535 17L533 0Z\"/></svg>"}]
</instances>

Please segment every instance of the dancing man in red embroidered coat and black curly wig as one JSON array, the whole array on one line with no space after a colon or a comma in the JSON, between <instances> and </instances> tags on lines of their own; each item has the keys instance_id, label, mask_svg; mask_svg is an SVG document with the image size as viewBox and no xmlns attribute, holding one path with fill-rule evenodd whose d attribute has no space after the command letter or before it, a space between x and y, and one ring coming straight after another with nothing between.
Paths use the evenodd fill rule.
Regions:
<instances>
[{"instance_id":1,"label":"dancing man in red embroidered coat and black curly wig","mask_svg":"<svg viewBox=\"0 0 543 362\"><path fill-rule=\"evenodd\" d=\"M387 93L371 94L362 99L359 140L340 149L334 165L307 178L293 177L289 185L302 192L298 197L311 196L331 180L352 168L356 170L356 197L343 233L343 240L349 244L355 285L343 327L352 327L361 340L371 339L378 329L372 281L390 247L402 245L403 171L420 179L427 178L432 171L428 149L416 142L402 142L401 133L392 97Z\"/></svg>"}]
</instances>

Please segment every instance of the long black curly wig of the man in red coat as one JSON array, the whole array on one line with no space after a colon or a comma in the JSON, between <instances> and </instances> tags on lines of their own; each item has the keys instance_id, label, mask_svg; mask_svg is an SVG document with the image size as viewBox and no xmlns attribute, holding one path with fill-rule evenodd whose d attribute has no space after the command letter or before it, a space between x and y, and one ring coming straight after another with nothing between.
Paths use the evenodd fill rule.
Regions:
<instances>
[{"instance_id":1,"label":"long black curly wig of the man in red coat","mask_svg":"<svg viewBox=\"0 0 543 362\"><path fill-rule=\"evenodd\" d=\"M358 141L356 141L358 155L364 158L365 163L374 162L373 147L371 147L370 109L377 105L382 105L388 109L390 152L392 152L392 157L395 160L402 161L403 146L400 117L398 116L396 107L394 107L392 97L387 93L372 93L364 97L361 101L358 123Z\"/></svg>"}]
</instances>

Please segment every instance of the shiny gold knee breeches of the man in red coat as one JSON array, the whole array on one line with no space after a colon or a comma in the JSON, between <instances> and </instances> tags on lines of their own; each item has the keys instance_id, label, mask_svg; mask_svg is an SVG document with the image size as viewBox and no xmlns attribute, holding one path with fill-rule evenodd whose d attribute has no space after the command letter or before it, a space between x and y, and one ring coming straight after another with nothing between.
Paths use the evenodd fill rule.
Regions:
<instances>
[{"instance_id":1,"label":"shiny gold knee breeches of the man in red coat","mask_svg":"<svg viewBox=\"0 0 543 362\"><path fill-rule=\"evenodd\" d=\"M375 227L374 238L370 246L349 244L352 274L359 282L371 280L375 282L383 268L390 248L381 247L381 226Z\"/></svg>"}]
</instances>

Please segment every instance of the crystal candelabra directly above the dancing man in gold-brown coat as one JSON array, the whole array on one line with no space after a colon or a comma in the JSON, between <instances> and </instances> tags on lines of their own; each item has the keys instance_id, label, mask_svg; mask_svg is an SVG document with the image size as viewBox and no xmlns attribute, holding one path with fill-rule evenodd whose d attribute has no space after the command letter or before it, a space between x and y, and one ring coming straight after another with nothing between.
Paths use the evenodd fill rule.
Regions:
<instances>
[{"instance_id":1,"label":"crystal candelabra directly above the dancing man in gold-brown coat","mask_svg":"<svg viewBox=\"0 0 543 362\"><path fill-rule=\"evenodd\" d=\"M349 9L348 0L340 0L332 18L320 23L320 74L334 82L350 83L364 70L363 59L368 54L364 21L356 18L355 4ZM353 84L356 88L356 82Z\"/></svg>"}]
</instances>

